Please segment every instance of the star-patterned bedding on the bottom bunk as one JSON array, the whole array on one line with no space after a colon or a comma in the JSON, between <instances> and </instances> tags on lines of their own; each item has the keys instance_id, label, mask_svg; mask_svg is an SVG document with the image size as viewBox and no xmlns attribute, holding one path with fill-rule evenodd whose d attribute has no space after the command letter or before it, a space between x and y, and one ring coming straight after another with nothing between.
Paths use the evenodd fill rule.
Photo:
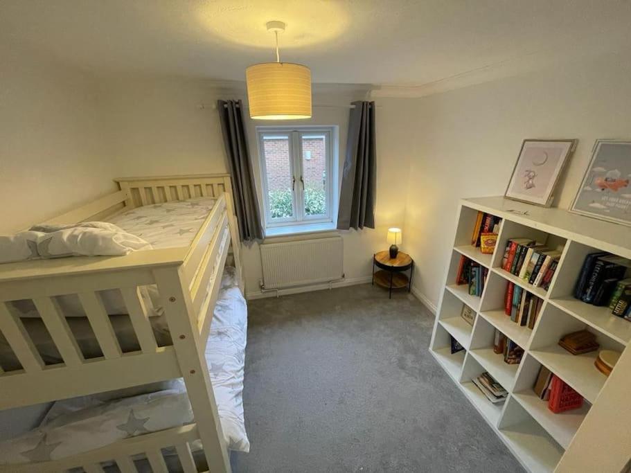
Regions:
<instances>
[{"instance_id":1,"label":"star-patterned bedding on the bottom bunk","mask_svg":"<svg viewBox=\"0 0 631 473\"><path fill-rule=\"evenodd\" d=\"M242 403L246 335L245 298L226 267L205 352L226 445L241 452L249 451ZM0 443L0 464L66 458L191 422L181 379L57 401L37 429Z\"/></svg>"}]
</instances>

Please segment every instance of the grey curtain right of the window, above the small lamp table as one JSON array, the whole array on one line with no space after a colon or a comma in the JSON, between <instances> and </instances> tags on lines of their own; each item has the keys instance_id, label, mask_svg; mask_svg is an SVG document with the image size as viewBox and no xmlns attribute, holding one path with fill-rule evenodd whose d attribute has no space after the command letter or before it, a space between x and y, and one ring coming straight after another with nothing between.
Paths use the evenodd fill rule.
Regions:
<instances>
[{"instance_id":1,"label":"grey curtain right of the window, above the small lamp table","mask_svg":"<svg viewBox=\"0 0 631 473\"><path fill-rule=\"evenodd\" d=\"M375 228L375 102L353 102L339 194L337 228Z\"/></svg>"}]
</instances>

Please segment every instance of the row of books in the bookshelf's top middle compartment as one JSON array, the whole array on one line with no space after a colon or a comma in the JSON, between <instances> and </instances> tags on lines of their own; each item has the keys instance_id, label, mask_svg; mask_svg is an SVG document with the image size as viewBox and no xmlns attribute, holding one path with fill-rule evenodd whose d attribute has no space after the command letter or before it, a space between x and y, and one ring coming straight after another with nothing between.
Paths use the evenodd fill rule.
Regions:
<instances>
[{"instance_id":1,"label":"row of books in the bookshelf's top middle compartment","mask_svg":"<svg viewBox=\"0 0 631 473\"><path fill-rule=\"evenodd\" d=\"M530 238L511 238L504 249L501 268L535 287L548 289L561 251Z\"/></svg>"}]
</instances>

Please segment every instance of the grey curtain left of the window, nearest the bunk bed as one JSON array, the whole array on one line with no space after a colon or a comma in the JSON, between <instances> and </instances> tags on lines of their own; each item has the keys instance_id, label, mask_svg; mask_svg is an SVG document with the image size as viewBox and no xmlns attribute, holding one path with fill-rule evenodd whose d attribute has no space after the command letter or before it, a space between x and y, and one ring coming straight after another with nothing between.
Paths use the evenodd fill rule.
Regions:
<instances>
[{"instance_id":1,"label":"grey curtain left of the window, nearest the bunk bed","mask_svg":"<svg viewBox=\"0 0 631 473\"><path fill-rule=\"evenodd\" d=\"M247 147L241 100L217 100L224 147L232 177L235 213L241 240L263 239L260 208L254 186L254 172Z\"/></svg>"}]
</instances>

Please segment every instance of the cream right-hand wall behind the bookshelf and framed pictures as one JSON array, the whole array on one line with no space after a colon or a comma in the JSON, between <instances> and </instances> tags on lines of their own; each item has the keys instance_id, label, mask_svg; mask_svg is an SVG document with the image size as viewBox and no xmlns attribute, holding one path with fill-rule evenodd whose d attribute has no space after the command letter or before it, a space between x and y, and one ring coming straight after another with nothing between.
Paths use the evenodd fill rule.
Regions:
<instances>
[{"instance_id":1,"label":"cream right-hand wall behind the bookshelf and framed pictures","mask_svg":"<svg viewBox=\"0 0 631 473\"><path fill-rule=\"evenodd\" d=\"M630 77L627 51L416 100L404 239L420 294L438 301L458 199L503 195L523 139L579 140L557 199L571 204L594 141L631 138Z\"/></svg>"}]
</instances>

